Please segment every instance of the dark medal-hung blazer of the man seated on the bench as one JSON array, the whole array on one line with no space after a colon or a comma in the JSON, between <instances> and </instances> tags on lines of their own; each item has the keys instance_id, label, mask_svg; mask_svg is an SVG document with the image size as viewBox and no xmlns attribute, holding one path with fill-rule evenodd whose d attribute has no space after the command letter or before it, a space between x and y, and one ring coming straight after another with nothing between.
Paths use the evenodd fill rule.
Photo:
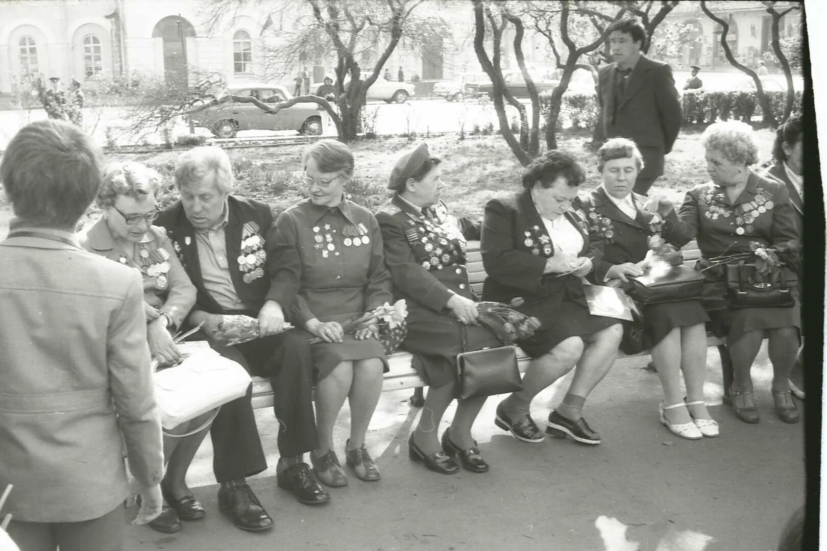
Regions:
<instances>
[{"instance_id":1,"label":"dark medal-hung blazer of the man seated on the bench","mask_svg":"<svg viewBox=\"0 0 827 551\"><path fill-rule=\"evenodd\" d=\"M267 300L280 303L284 312L293 306L296 293L299 292L299 281L289 271L281 270L273 261L273 246L275 245L275 224L270 207L245 197L227 197L229 209L227 226L224 228L227 243L227 261L230 268L230 277L241 301L249 304L257 316L261 306ZM263 265L264 277L255 278L250 282L244 280L245 273L241 272L237 258L241 255L241 240L244 225L255 222L258 226L257 235L264 241L263 249L266 254ZM195 228L187 219L184 206L180 201L161 211L155 226L163 226L172 241L173 249L178 255L181 264L184 264L189 278L198 290L195 307L210 314L226 314L222 306L210 296L204 287L201 277L201 263L198 260L198 245L195 240Z\"/></svg>"}]
</instances>

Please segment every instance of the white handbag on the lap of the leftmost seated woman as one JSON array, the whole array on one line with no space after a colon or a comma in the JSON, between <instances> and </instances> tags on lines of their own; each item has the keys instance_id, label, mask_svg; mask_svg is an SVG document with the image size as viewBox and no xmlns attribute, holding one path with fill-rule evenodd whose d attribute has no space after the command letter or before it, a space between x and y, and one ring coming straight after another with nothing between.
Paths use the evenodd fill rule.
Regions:
<instances>
[{"instance_id":1,"label":"white handbag on the lap of the leftmost seated woman","mask_svg":"<svg viewBox=\"0 0 827 551\"><path fill-rule=\"evenodd\" d=\"M240 363L222 357L204 341L198 342L205 345L179 344L181 352L189 356L178 365L154 374L155 401L165 429L244 396L252 382Z\"/></svg>"}]
</instances>

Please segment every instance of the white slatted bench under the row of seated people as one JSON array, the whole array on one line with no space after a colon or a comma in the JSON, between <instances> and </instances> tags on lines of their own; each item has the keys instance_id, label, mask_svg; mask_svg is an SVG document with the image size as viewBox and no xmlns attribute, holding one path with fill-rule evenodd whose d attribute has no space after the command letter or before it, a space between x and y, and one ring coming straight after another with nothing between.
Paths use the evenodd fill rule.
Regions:
<instances>
[{"instance_id":1,"label":"white slatted bench under the row of seated people","mask_svg":"<svg viewBox=\"0 0 827 551\"><path fill-rule=\"evenodd\" d=\"M696 259L700 258L700 250L695 241L691 241L683 249L684 264L690 267L695 264ZM468 281L471 283L471 289L480 294L482 292L482 283L485 281L485 268L482 266L482 256L480 254L480 242L469 241L467 268ZM724 344L724 339L719 339L710 336L706 340L708 346L718 346ZM634 356L646 356L648 352L634 354ZM627 358L625 354L619 354L619 358ZM419 377L416 370L411 367L412 356L408 352L394 352L388 356L388 364L390 371L385 373L385 381L382 384L382 392L392 390L403 390L404 388L415 388L414 396L411 398L411 403L414 406L422 406L422 388L427 386L422 378ZM517 347L517 359L520 373L525 373L528 368L528 355L523 350ZM271 407L273 406L273 389L270 387L270 381L265 378L253 378L253 396L252 406L254 408Z\"/></svg>"}]
</instances>

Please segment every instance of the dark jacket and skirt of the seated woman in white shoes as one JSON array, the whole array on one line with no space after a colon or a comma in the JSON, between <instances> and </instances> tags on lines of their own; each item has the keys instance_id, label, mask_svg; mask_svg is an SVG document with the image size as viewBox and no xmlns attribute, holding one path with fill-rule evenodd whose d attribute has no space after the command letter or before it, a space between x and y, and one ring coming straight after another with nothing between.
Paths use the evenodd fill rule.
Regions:
<instances>
[{"instance_id":1,"label":"dark jacket and skirt of the seated woman in white shoes","mask_svg":"<svg viewBox=\"0 0 827 551\"><path fill-rule=\"evenodd\" d=\"M660 224L643 211L648 197L632 192L637 216L634 219L621 211L607 196L603 186L598 186L580 207L589 225L590 235L603 241L603 257L595 264L590 279L595 285L603 285L606 273L615 264L638 263L648 252L648 238L660 233ZM676 327L690 327L710 321L698 301L664 302L641 305L643 313L643 346L651 349Z\"/></svg>"}]
</instances>

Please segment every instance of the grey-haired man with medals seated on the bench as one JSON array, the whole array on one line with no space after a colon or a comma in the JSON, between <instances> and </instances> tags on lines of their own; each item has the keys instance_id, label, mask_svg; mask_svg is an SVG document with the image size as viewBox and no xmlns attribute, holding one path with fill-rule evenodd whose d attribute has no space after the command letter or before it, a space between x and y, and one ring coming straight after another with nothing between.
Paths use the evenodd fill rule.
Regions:
<instances>
[{"instance_id":1,"label":"grey-haired man with medals seated on the bench","mask_svg":"<svg viewBox=\"0 0 827 551\"><path fill-rule=\"evenodd\" d=\"M180 154L174 178L180 199L161 211L155 224L167 230L198 291L189 323L203 323L203 332L219 354L272 381L280 425L279 487L308 505L329 501L304 463L304 453L318 446L313 366L307 338L282 330L284 311L293 305L299 282L270 260L275 245L270 207L230 194L230 159L218 147ZM257 320L260 338L234 346L223 344L219 330L233 325L237 316ZM222 408L213 422L215 465L227 463L225 473L216 470L221 482L218 504L239 528L264 530L272 520L244 480L267 466L250 400L248 392L244 409L222 422Z\"/></svg>"}]
</instances>

